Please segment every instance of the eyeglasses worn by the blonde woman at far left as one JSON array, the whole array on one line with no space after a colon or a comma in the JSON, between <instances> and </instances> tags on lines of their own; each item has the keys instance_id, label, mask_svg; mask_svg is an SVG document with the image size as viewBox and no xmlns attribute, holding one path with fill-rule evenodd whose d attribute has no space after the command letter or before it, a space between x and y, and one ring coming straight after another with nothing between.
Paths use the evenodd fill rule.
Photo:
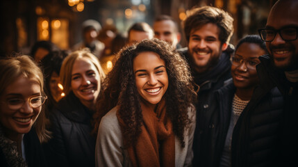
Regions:
<instances>
[{"instance_id":1,"label":"eyeglasses worn by the blonde woman at far left","mask_svg":"<svg viewBox=\"0 0 298 167\"><path fill-rule=\"evenodd\" d=\"M47 100L47 96L34 96L34 97L28 98L28 103L33 109L35 109L35 108L38 108L39 106L42 106L42 104L44 104L46 100ZM21 109L25 102L26 100L18 97L6 100L6 104L8 105L8 108L11 110Z\"/></svg>"}]
</instances>

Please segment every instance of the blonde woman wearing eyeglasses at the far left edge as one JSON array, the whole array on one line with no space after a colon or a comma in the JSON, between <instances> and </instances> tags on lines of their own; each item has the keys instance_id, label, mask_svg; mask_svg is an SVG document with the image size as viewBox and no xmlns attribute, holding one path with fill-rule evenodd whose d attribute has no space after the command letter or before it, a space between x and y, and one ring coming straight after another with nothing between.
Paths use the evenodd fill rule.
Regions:
<instances>
[{"instance_id":1,"label":"blonde woman wearing eyeglasses at the far left edge","mask_svg":"<svg viewBox=\"0 0 298 167\"><path fill-rule=\"evenodd\" d=\"M0 60L0 166L47 166L42 71L29 56Z\"/></svg>"}]
</instances>

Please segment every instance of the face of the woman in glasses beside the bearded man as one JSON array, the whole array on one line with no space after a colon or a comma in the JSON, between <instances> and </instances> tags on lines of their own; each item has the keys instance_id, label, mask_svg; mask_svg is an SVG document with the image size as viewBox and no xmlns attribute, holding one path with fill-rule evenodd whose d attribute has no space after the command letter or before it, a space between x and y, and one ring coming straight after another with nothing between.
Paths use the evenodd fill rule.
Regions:
<instances>
[{"instance_id":1,"label":"face of the woman in glasses beside the bearded man","mask_svg":"<svg viewBox=\"0 0 298 167\"><path fill-rule=\"evenodd\" d=\"M233 83L236 88L251 89L258 84L258 74L256 65L260 63L259 56L265 54L265 51L254 43L244 42L235 51L234 61L231 66ZM242 62L242 63L240 63Z\"/></svg>"}]
</instances>

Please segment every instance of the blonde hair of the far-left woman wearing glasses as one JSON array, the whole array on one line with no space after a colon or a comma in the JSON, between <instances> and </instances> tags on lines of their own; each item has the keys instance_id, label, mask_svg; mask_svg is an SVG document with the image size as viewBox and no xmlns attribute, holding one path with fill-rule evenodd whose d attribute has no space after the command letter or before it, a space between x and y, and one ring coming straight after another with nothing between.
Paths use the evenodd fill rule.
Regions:
<instances>
[{"instance_id":1,"label":"blonde hair of the far-left woman wearing glasses","mask_svg":"<svg viewBox=\"0 0 298 167\"><path fill-rule=\"evenodd\" d=\"M4 90L12 84L19 76L35 80L40 85L40 92L44 95L44 77L40 67L35 64L30 56L16 56L0 60L0 95ZM50 137L50 132L46 129L47 119L44 113L44 105L40 111L40 115L35 121L33 127L40 142L46 142Z\"/></svg>"}]
</instances>

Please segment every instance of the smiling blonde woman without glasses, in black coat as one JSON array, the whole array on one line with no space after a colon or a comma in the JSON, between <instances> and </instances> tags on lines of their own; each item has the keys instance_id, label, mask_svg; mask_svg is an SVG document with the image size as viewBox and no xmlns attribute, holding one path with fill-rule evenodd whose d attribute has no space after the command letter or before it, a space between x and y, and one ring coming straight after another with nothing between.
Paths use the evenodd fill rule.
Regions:
<instances>
[{"instance_id":1,"label":"smiling blonde woman without glasses, in black coat","mask_svg":"<svg viewBox=\"0 0 298 167\"><path fill-rule=\"evenodd\" d=\"M91 119L105 77L89 50L74 51L64 59L60 79L66 96L49 116L53 137L46 153L50 166L95 166Z\"/></svg>"}]
</instances>

